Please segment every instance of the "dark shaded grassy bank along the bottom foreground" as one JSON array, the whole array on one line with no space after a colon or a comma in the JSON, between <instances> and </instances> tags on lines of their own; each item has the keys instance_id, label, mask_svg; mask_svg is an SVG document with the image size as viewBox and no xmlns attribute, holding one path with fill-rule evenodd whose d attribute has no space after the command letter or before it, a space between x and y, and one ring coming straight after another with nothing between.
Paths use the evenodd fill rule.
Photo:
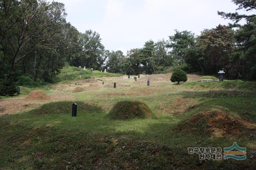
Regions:
<instances>
[{"instance_id":1,"label":"dark shaded grassy bank along the bottom foreground","mask_svg":"<svg viewBox=\"0 0 256 170\"><path fill-rule=\"evenodd\" d=\"M2 123L2 122L1 122ZM63 131L60 128L36 129L20 125L8 125L17 133L9 145L2 145L1 155L15 152L1 165L10 169L170 169L186 168L251 168L246 161L203 161L197 155L187 154L182 144L167 147L147 140L121 137L112 134L96 134ZM8 130L12 133L13 130ZM26 135L22 135L25 132ZM174 136L177 137L177 136ZM179 137L182 138L182 137ZM184 139L184 137L182 138ZM218 142L218 141L215 141ZM5 143L1 143L5 144ZM221 146L221 145L219 145ZM26 150L26 151L24 151ZM6 162L4 162L6 161Z\"/></svg>"}]
</instances>

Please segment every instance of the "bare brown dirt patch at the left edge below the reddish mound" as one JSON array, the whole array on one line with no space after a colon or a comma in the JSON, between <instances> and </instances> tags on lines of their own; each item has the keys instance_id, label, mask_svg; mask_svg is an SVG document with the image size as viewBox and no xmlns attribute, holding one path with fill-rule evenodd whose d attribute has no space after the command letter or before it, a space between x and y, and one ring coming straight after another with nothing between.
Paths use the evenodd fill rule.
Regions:
<instances>
[{"instance_id":1,"label":"bare brown dirt patch at the left edge below the reddish mound","mask_svg":"<svg viewBox=\"0 0 256 170\"><path fill-rule=\"evenodd\" d=\"M26 100L0 100L0 116L28 111L39 105Z\"/></svg>"}]
</instances>

